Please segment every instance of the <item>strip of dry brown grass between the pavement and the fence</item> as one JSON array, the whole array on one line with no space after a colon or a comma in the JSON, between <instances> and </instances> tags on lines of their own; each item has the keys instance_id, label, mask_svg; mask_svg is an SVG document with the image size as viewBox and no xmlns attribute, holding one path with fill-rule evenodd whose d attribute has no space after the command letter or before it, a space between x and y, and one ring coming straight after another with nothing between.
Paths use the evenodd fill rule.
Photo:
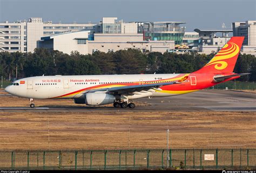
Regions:
<instances>
[{"instance_id":1,"label":"strip of dry brown grass between the pavement and the fence","mask_svg":"<svg viewBox=\"0 0 256 173\"><path fill-rule=\"evenodd\" d=\"M248 112L2 112L0 149L129 148L129 116L130 148L165 148L167 123L172 148L255 148L255 115Z\"/></svg>"}]
</instances>

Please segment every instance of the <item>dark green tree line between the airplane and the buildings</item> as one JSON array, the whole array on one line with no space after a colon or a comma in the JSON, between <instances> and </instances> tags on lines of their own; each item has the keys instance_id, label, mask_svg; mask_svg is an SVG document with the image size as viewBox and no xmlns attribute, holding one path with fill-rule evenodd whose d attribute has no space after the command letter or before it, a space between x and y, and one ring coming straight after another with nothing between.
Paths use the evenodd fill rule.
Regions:
<instances>
[{"instance_id":1,"label":"dark green tree line between the airplane and the buildings","mask_svg":"<svg viewBox=\"0 0 256 173\"><path fill-rule=\"evenodd\" d=\"M139 50L66 54L49 49L35 49L33 53L0 52L0 72L5 80L38 75L90 75L90 74L153 74L191 73L203 67L212 54L160 53ZM240 81L256 81L256 58L239 54L235 73L251 73Z\"/></svg>"}]
</instances>

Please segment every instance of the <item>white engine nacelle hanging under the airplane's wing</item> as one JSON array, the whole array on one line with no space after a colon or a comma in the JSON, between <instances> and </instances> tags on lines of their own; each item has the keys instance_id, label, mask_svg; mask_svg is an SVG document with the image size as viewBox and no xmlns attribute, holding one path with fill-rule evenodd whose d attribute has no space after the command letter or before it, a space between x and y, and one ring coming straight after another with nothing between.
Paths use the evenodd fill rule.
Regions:
<instances>
[{"instance_id":1,"label":"white engine nacelle hanging under the airplane's wing","mask_svg":"<svg viewBox=\"0 0 256 173\"><path fill-rule=\"evenodd\" d=\"M107 105L113 103L116 96L106 93L87 93L85 94L86 105Z\"/></svg>"}]
</instances>

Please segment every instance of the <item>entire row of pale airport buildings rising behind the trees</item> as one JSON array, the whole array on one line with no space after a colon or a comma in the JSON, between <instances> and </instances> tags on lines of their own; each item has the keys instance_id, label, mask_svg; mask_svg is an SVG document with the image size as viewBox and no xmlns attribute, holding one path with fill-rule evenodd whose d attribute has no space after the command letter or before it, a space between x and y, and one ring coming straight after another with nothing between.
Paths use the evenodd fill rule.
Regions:
<instances>
[{"instance_id":1,"label":"entire row of pale airport buildings rising behind the trees","mask_svg":"<svg viewBox=\"0 0 256 173\"><path fill-rule=\"evenodd\" d=\"M62 24L29 18L0 23L0 51L33 52L46 47L70 54L78 51L114 52L137 49L142 52L199 52L218 51L231 37L245 36L241 52L256 55L256 21L234 22L233 30L195 29L185 32L185 22L129 22L117 17L103 17L99 23ZM221 33L221 36L216 35Z\"/></svg>"}]
</instances>

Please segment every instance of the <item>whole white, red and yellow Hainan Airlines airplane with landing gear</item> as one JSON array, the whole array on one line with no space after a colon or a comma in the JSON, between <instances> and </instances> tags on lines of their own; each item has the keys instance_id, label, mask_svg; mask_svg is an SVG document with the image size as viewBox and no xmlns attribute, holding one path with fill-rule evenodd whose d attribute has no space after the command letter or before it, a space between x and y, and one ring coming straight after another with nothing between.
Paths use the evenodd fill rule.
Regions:
<instances>
[{"instance_id":1,"label":"whole white, red and yellow Hainan Airlines airplane with landing gear","mask_svg":"<svg viewBox=\"0 0 256 173\"><path fill-rule=\"evenodd\" d=\"M5 91L23 98L73 99L77 104L134 108L131 99L173 96L239 78L233 69L244 37L232 37L200 70L184 74L55 75L16 80Z\"/></svg>"}]
</instances>

